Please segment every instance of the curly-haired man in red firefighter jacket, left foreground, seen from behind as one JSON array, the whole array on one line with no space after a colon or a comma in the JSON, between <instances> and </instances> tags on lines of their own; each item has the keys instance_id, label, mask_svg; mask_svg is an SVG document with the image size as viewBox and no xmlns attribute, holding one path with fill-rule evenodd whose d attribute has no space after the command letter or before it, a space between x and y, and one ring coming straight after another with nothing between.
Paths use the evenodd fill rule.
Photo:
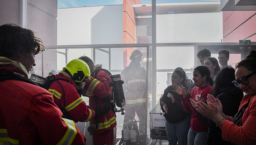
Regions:
<instances>
[{"instance_id":1,"label":"curly-haired man in red firefighter jacket, left foreground, seen from behind","mask_svg":"<svg viewBox=\"0 0 256 145\"><path fill-rule=\"evenodd\" d=\"M34 56L44 51L41 39L4 24L0 42L0 144L84 145L75 122L61 118L51 94L28 79Z\"/></svg>"}]
</instances>

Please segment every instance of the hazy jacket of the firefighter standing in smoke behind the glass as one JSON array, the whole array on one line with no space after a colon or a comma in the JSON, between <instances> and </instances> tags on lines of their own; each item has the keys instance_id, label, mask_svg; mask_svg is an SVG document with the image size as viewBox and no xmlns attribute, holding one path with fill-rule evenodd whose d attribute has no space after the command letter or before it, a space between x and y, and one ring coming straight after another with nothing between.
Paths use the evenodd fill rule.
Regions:
<instances>
[{"instance_id":1,"label":"hazy jacket of the firefighter standing in smoke behind the glass","mask_svg":"<svg viewBox=\"0 0 256 145\"><path fill-rule=\"evenodd\" d=\"M125 82L125 98L127 105L146 102L146 70L142 66L129 65L121 72Z\"/></svg>"}]
</instances>

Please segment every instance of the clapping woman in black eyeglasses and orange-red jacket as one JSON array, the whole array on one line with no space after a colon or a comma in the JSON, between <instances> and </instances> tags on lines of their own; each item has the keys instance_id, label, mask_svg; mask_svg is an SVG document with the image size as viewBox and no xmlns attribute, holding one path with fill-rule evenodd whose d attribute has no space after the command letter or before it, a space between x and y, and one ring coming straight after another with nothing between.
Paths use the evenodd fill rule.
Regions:
<instances>
[{"instance_id":1,"label":"clapping woman in black eyeglasses and orange-red jacket","mask_svg":"<svg viewBox=\"0 0 256 145\"><path fill-rule=\"evenodd\" d=\"M196 110L211 118L222 130L223 140L237 145L256 144L256 56L249 55L236 66L234 85L246 94L234 118L225 115L222 104L213 95L207 96L207 104L196 103Z\"/></svg>"}]
</instances>

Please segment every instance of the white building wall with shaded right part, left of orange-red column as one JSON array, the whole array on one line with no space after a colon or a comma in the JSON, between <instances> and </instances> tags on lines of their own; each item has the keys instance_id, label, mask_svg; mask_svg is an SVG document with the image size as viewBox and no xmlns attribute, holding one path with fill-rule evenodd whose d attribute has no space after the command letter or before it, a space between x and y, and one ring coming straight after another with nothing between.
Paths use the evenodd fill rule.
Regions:
<instances>
[{"instance_id":1,"label":"white building wall with shaded right part, left of orange-red column","mask_svg":"<svg viewBox=\"0 0 256 145\"><path fill-rule=\"evenodd\" d=\"M58 45L123 43L123 5L58 9L57 20ZM68 51L68 61L84 54L93 59L92 49L77 49ZM60 59L63 60L62 54L58 54L58 70L65 66ZM114 59L123 60L123 49L111 51L111 60ZM94 63L102 63L108 69L108 57L97 55L97 51ZM123 63L111 64L111 69L122 68Z\"/></svg>"}]
</instances>

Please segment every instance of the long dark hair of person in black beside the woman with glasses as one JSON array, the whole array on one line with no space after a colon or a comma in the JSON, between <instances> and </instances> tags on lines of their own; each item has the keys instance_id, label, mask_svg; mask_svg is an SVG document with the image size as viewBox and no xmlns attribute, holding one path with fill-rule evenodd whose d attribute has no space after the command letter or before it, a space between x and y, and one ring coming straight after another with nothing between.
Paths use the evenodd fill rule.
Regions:
<instances>
[{"instance_id":1,"label":"long dark hair of person in black beside the woman with glasses","mask_svg":"<svg viewBox=\"0 0 256 145\"><path fill-rule=\"evenodd\" d=\"M212 94L214 96L217 96L220 94L221 90L228 87L234 87L232 81L234 81L235 79L235 70L233 68L226 67L222 69L216 77L213 85Z\"/></svg>"}]
</instances>

